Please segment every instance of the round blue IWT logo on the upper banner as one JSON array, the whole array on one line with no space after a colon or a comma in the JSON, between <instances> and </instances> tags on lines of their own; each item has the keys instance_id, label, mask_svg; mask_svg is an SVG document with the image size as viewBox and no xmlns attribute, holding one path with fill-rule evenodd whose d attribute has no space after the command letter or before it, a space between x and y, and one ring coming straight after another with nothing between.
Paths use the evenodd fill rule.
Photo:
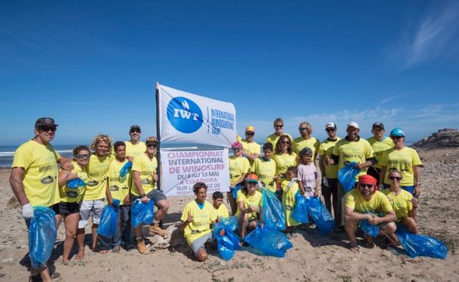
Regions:
<instances>
[{"instance_id":1,"label":"round blue IWT logo on the upper banner","mask_svg":"<svg viewBox=\"0 0 459 282\"><path fill-rule=\"evenodd\" d=\"M202 126L202 111L185 97L175 97L168 104L168 120L177 131L193 133Z\"/></svg>"}]
</instances>

